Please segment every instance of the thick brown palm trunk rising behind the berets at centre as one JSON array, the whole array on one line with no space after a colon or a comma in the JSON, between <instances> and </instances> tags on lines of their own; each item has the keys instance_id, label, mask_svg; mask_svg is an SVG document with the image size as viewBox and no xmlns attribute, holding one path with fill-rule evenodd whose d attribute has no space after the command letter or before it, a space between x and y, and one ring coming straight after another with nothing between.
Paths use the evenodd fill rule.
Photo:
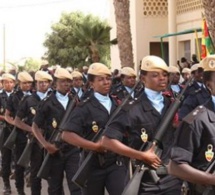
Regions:
<instances>
[{"instance_id":1,"label":"thick brown palm trunk rising behind the berets at centre","mask_svg":"<svg viewBox=\"0 0 215 195\"><path fill-rule=\"evenodd\" d=\"M115 20L117 26L117 42L121 66L134 67L133 48L130 28L130 1L114 0Z\"/></svg>"}]
</instances>

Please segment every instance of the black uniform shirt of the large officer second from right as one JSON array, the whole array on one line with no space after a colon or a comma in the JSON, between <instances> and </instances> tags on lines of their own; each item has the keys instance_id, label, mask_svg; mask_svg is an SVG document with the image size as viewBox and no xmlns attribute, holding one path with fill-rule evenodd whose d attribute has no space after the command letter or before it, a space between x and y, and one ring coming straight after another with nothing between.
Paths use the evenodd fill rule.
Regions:
<instances>
[{"instance_id":1,"label":"black uniform shirt of the large officer second from right","mask_svg":"<svg viewBox=\"0 0 215 195\"><path fill-rule=\"evenodd\" d=\"M148 135L148 140L152 141L159 123L162 121L164 113L167 111L170 105L170 100L164 97L164 108L160 114L153 106L146 94L142 96L130 105L114 118L112 123L105 131L105 135L111 139L117 139L123 142L125 134L129 136L129 145L137 150L140 149L143 141L141 140L141 131L144 128ZM162 140L163 154L161 159L164 163L169 160L169 151L173 145L174 129L170 126L164 134Z\"/></svg>"}]
</instances>

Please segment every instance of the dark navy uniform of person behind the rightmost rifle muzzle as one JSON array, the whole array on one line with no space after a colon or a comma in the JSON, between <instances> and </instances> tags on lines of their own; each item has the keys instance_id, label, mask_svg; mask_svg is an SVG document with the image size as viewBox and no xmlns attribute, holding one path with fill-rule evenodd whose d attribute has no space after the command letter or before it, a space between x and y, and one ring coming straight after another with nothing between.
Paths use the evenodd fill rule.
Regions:
<instances>
[{"instance_id":1,"label":"dark navy uniform of person behind the rightmost rifle muzzle","mask_svg":"<svg viewBox=\"0 0 215 195\"><path fill-rule=\"evenodd\" d=\"M205 87L198 88L186 97L179 110L179 120L193 111L197 106L204 104L210 99L210 93Z\"/></svg>"}]
</instances>

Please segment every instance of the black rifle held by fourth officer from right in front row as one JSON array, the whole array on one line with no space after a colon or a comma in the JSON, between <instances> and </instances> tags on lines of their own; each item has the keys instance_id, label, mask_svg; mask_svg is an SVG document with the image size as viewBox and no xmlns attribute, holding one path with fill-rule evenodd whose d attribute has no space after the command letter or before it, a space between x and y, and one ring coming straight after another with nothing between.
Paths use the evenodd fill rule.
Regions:
<instances>
[{"instance_id":1,"label":"black rifle held by fourth officer from right in front row","mask_svg":"<svg viewBox=\"0 0 215 195\"><path fill-rule=\"evenodd\" d=\"M70 104L66 110L66 113L60 122L59 129L54 130L54 132L52 133L52 135L50 137L49 142L51 142L51 143L59 142L60 137L61 137L62 126L68 120L68 117L69 117L71 111L75 108L77 97L78 97L78 92L75 94L72 101L70 102ZM37 177L39 177L41 179L48 179L49 178L49 172L51 170L51 159L50 159L50 157L51 157L51 154L47 153L44 160L43 160L43 163L42 163L42 165L41 165L41 167L37 173Z\"/></svg>"}]
</instances>

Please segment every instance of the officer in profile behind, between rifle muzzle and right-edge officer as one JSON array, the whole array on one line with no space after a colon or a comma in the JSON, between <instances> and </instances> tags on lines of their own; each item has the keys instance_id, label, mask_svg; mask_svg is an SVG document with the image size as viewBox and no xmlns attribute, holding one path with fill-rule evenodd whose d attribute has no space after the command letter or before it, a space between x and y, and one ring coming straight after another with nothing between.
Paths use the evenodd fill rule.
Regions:
<instances>
[{"instance_id":1,"label":"officer in profile behind, between rifle muzzle and right-edge officer","mask_svg":"<svg viewBox=\"0 0 215 195\"><path fill-rule=\"evenodd\" d=\"M195 64L191 67L194 82L190 87L188 87L186 98L180 107L180 121L197 106L204 104L208 99L210 99L210 93L208 93L208 90L202 83L202 70L203 68L201 67L201 64Z\"/></svg>"}]
</instances>

